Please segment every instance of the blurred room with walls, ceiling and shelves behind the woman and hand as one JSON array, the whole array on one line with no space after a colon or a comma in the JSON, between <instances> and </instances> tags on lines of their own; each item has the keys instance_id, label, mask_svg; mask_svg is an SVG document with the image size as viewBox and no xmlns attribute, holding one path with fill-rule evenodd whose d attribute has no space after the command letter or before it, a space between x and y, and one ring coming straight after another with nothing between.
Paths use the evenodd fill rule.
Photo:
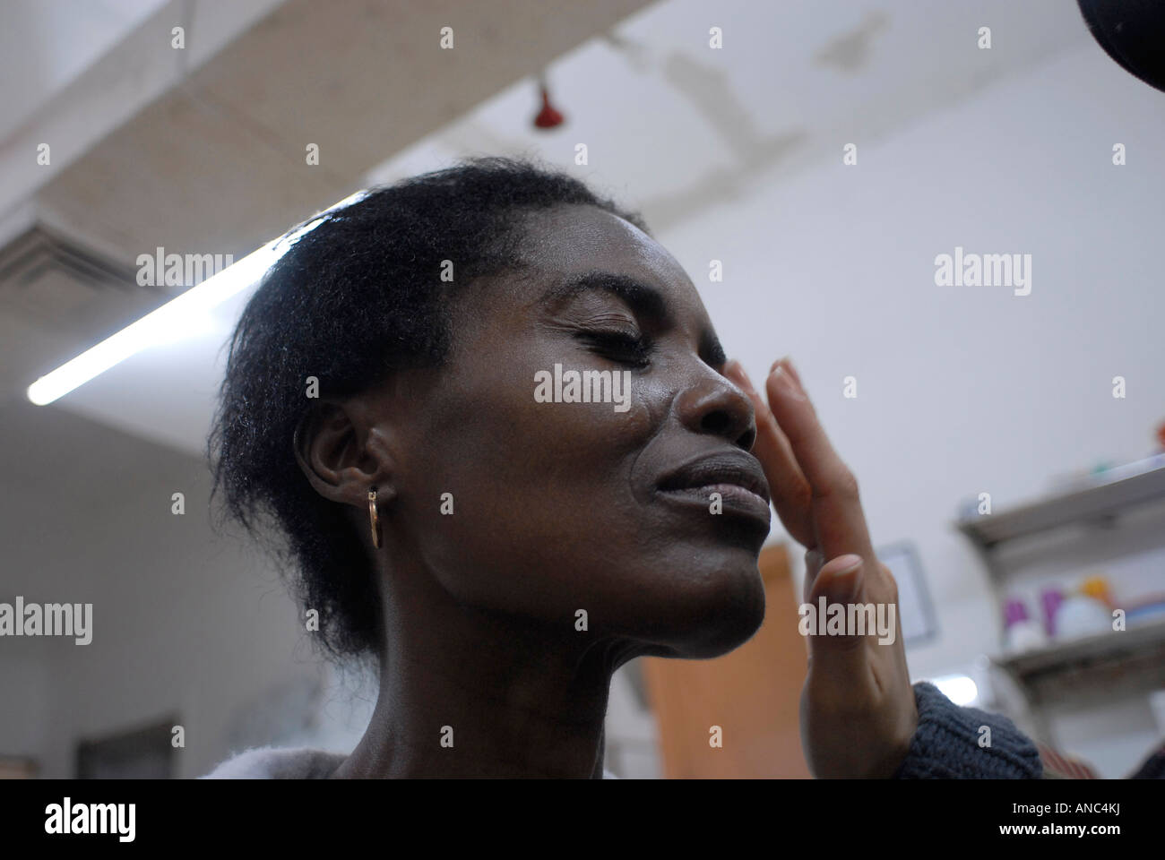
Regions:
<instances>
[{"instance_id":1,"label":"blurred room with walls, ceiling and shelves behind the woman and hand","mask_svg":"<svg viewBox=\"0 0 1165 860\"><path fill-rule=\"evenodd\" d=\"M641 210L754 379L793 357L916 679L1076 775L1165 738L1165 111L1075 3L8 0L0 76L0 601L93 605L89 644L0 637L5 775L354 746L375 688L211 527L220 347L270 240L481 154ZM956 248L1030 294L938 286ZM223 270L143 276L170 254ZM807 774L775 523L753 641L616 675L616 774Z\"/></svg>"}]
</instances>

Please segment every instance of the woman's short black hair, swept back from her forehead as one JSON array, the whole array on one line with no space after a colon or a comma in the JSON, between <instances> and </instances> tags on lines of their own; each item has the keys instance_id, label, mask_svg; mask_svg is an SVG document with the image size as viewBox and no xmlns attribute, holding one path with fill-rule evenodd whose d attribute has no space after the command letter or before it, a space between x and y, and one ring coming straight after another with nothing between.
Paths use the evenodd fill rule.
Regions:
<instances>
[{"instance_id":1,"label":"woman's short black hair, swept back from her forehead","mask_svg":"<svg viewBox=\"0 0 1165 860\"><path fill-rule=\"evenodd\" d=\"M207 444L223 513L270 544L294 597L319 613L325 656L380 655L373 571L345 506L319 495L294 452L296 429L320 397L347 397L389 372L438 366L450 346L459 287L521 268L518 216L558 205L636 213L562 171L514 158L469 158L368 191L294 239L247 303L230 340ZM274 524L274 533L262 526ZM278 533L282 533L280 536Z\"/></svg>"}]
</instances>

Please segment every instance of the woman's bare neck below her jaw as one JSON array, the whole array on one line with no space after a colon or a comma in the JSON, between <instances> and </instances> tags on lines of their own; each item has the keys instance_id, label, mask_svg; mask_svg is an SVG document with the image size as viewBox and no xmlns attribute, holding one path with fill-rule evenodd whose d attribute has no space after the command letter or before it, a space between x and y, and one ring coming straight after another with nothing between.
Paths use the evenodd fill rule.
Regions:
<instances>
[{"instance_id":1,"label":"woman's bare neck below her jaw","mask_svg":"<svg viewBox=\"0 0 1165 860\"><path fill-rule=\"evenodd\" d=\"M376 707L334 776L601 778L610 676L633 646L572 618L467 608L431 574L401 572L383 590Z\"/></svg>"}]
</instances>

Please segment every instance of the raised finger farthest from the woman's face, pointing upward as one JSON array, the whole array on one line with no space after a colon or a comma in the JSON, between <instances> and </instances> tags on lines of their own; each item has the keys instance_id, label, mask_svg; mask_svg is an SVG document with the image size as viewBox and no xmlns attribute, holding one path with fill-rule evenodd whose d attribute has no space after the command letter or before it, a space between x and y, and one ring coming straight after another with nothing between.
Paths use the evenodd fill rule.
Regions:
<instances>
[{"instance_id":1,"label":"raised finger farthest from the woman's face, pointing upward","mask_svg":"<svg viewBox=\"0 0 1165 860\"><path fill-rule=\"evenodd\" d=\"M826 558L856 554L873 559L857 482L833 450L805 394L782 359L769 374L769 408L810 487L817 548ZM813 545L813 544L809 544Z\"/></svg>"}]
</instances>

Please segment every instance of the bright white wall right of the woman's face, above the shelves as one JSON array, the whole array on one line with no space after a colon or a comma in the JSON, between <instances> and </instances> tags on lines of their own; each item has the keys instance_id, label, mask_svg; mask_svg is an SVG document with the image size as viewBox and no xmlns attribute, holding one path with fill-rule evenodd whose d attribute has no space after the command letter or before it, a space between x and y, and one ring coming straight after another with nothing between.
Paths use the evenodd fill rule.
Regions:
<instances>
[{"instance_id":1,"label":"bright white wall right of the woman's face, above the shelves","mask_svg":"<svg viewBox=\"0 0 1165 860\"><path fill-rule=\"evenodd\" d=\"M757 175L662 237L754 380L793 357L859 478L875 545L918 547L941 636L911 649L917 677L997 650L986 573L951 526L960 501L989 492L1003 509L1153 447L1160 99L1089 47L883 140L814 141L817 169ZM1125 167L1111 163L1117 142ZM955 246L1031 254L1031 295L937 287L934 258ZM712 259L723 283L708 283ZM1111 396L1115 375L1125 400ZM1159 566L1148 574L1165 584ZM1151 738L1148 707L1130 707Z\"/></svg>"}]
</instances>

